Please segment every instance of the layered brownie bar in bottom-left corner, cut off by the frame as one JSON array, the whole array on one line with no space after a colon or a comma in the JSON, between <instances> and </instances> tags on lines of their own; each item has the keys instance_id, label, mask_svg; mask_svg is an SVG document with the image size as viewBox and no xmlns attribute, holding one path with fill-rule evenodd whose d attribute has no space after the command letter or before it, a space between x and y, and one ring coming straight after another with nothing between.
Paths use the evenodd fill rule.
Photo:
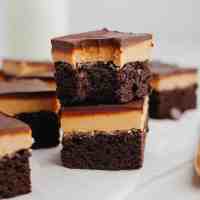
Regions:
<instances>
[{"instance_id":1,"label":"layered brownie bar in bottom-left corner, cut off by the frame","mask_svg":"<svg viewBox=\"0 0 200 200\"><path fill-rule=\"evenodd\" d=\"M31 145L29 126L0 113L0 198L14 197L31 191Z\"/></svg>"}]
</instances>

